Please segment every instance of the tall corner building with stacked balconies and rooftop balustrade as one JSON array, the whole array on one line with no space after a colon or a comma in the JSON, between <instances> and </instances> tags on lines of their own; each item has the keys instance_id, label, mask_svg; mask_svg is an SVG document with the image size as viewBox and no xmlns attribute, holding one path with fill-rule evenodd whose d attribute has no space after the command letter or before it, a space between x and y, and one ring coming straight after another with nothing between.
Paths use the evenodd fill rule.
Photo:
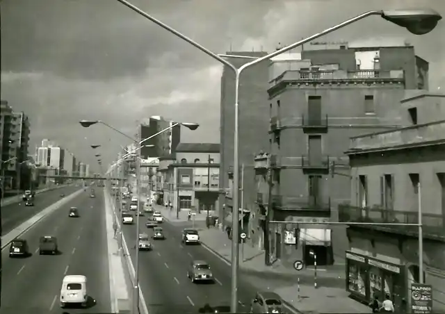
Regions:
<instances>
[{"instance_id":1,"label":"tall corner building with stacked balconies and rooftop balustrade","mask_svg":"<svg viewBox=\"0 0 445 314\"><path fill-rule=\"evenodd\" d=\"M400 127L405 89L427 87L428 63L414 47L394 46L318 49L314 43L293 53L293 60L290 54L273 59L268 89L272 179L270 199L264 199L273 210L271 220L300 222L270 225L272 256L284 265L291 267L296 259L313 265L311 252L318 265L344 262L345 227L323 222L337 221L332 208L350 199L344 154L349 138ZM259 204L259 217L266 219L268 204Z\"/></svg>"}]
</instances>

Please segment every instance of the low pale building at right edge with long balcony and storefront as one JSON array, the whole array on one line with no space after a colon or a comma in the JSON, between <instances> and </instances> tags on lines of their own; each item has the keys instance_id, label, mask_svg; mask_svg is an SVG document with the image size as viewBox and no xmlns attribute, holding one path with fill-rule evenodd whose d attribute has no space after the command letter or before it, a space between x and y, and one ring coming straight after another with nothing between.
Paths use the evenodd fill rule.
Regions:
<instances>
[{"instance_id":1,"label":"low pale building at right edge with long balcony and storefront","mask_svg":"<svg viewBox=\"0 0 445 314\"><path fill-rule=\"evenodd\" d=\"M445 94L417 91L401 101L405 127L350 140L351 201L339 206L339 220L375 223L347 229L346 288L361 301L390 295L396 312L407 313L423 277L432 312L445 310L444 112ZM385 223L421 223L422 233Z\"/></svg>"}]
</instances>

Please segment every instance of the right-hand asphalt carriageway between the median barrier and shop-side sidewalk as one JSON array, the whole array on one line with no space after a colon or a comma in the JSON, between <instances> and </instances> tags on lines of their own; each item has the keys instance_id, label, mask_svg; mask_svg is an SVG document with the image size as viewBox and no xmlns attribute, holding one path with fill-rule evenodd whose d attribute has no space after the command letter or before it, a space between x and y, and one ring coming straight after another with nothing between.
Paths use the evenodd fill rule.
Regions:
<instances>
[{"instance_id":1,"label":"right-hand asphalt carriageway between the median barrier and shop-side sidewalk","mask_svg":"<svg viewBox=\"0 0 445 314\"><path fill-rule=\"evenodd\" d=\"M147 215L140 217L140 233L152 235L145 227ZM153 251L140 251L139 276L140 288L144 294L150 314L191 312L209 303L211 306L230 304L232 274L230 267L200 245L181 245L181 228L165 222L162 224L165 240L155 240ZM136 249L136 223L123 226L124 236L129 246L133 263ZM213 284L195 284L187 278L187 267L193 260L209 263L215 276ZM250 301L257 289L252 287L243 274L238 280L238 312L250 310Z\"/></svg>"}]
</instances>

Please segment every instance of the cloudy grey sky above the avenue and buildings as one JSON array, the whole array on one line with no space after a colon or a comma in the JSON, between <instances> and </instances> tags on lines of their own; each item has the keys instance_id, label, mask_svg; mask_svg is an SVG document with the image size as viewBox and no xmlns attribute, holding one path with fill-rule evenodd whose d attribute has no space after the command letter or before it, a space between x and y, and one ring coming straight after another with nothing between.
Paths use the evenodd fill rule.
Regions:
<instances>
[{"instance_id":1,"label":"cloudy grey sky above the avenue and buildings","mask_svg":"<svg viewBox=\"0 0 445 314\"><path fill-rule=\"evenodd\" d=\"M133 0L215 53L273 51L366 10L434 8L442 0ZM219 142L222 66L116 0L1 0L1 99L31 120L31 149L54 140L97 171L152 115L197 122L182 142ZM445 22L412 35L380 17L318 39L403 38L430 62L430 90L445 89ZM242 108L242 107L241 107ZM101 144L92 151L90 144ZM240 143L242 144L242 143Z\"/></svg>"}]
</instances>

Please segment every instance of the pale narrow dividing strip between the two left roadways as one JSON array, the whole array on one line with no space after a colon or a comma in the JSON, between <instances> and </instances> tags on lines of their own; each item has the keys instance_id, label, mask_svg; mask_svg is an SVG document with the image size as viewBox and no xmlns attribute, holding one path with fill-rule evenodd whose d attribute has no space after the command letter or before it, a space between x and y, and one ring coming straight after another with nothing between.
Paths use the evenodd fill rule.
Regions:
<instances>
[{"instance_id":1,"label":"pale narrow dividing strip between the two left roadways","mask_svg":"<svg viewBox=\"0 0 445 314\"><path fill-rule=\"evenodd\" d=\"M1 250L3 251L3 249L6 249L10 242L12 242L15 238L18 238L19 236L22 236L22 234L26 233L26 231L29 231L29 229L33 228L33 226L44 220L45 217L47 217L51 213L54 213L54 211L58 210L75 197L81 195L81 192L83 192L83 189L72 192L72 194L64 197L63 199L59 199L58 201L56 201L56 203L49 205L47 208L44 208L40 210L39 213L33 215L33 217L30 217L29 220L26 220L25 222L22 222L22 224L19 224L19 226L6 233L6 235L1 236Z\"/></svg>"}]
</instances>

